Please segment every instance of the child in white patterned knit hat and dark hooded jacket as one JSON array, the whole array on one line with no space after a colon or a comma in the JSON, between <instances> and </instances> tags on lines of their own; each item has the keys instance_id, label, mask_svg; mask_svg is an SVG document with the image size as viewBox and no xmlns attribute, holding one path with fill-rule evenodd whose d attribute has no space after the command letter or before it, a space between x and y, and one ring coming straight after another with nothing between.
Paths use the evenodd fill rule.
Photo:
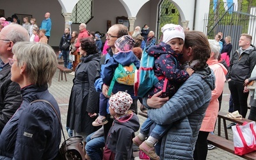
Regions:
<instances>
[{"instance_id":1,"label":"child in white patterned knit hat and dark hooded jacket","mask_svg":"<svg viewBox=\"0 0 256 160\"><path fill-rule=\"evenodd\" d=\"M109 98L109 112L115 117L109 129L103 159L132 159L132 138L140 128L140 121L129 108L132 97L126 92L117 92Z\"/></svg>"}]
</instances>

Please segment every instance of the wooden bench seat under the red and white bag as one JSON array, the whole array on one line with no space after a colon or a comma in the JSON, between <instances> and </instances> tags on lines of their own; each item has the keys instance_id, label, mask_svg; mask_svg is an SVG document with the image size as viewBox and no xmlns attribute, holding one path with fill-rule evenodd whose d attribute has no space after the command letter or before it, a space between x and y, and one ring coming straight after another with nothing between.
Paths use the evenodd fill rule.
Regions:
<instances>
[{"instance_id":1,"label":"wooden bench seat under the red and white bag","mask_svg":"<svg viewBox=\"0 0 256 160\"><path fill-rule=\"evenodd\" d=\"M227 152L235 154L233 141L226 140L225 138L222 138L221 136L216 136L213 134L209 134L207 140L210 144L212 144L218 148L221 148L223 150L226 150ZM240 157L243 157L244 159L252 159L253 160L253 159L256 159L256 152L251 152L251 153L245 154Z\"/></svg>"}]
</instances>

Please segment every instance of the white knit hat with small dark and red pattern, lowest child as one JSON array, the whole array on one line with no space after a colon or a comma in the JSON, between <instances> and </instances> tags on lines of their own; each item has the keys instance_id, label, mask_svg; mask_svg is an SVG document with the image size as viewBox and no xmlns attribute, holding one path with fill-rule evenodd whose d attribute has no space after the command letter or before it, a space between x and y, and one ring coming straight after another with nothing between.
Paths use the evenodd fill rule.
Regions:
<instances>
[{"instance_id":1,"label":"white knit hat with small dark and red pattern, lowest child","mask_svg":"<svg viewBox=\"0 0 256 160\"><path fill-rule=\"evenodd\" d=\"M115 113L124 115L126 111L131 107L132 97L126 92L117 92L109 98L109 107L111 107Z\"/></svg>"}]
</instances>

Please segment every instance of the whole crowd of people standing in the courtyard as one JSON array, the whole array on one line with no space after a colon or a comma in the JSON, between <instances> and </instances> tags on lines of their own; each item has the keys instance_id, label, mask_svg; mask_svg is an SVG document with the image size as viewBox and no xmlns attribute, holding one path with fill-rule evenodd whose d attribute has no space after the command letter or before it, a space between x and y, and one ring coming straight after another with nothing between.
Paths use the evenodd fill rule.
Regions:
<instances>
[{"instance_id":1,"label":"whole crowd of people standing in the courtyard","mask_svg":"<svg viewBox=\"0 0 256 160\"><path fill-rule=\"evenodd\" d=\"M0 159L52 159L58 156L61 130L58 103L47 89L58 65L47 45L50 13L40 28L27 17L22 25L15 16L12 24L0 20ZM133 143L150 159L206 159L207 136L214 134L226 81L230 109L245 117L250 94L249 119L255 120L255 92L246 88L256 79L252 36L242 34L240 48L232 53L231 37L223 41L222 33L208 40L177 24L165 24L161 31L157 44L147 24L133 32L114 24L102 46L102 34L88 31L84 23L72 33L65 28L59 53L65 67L73 57L74 75L67 129L70 136L83 136L86 159L134 159ZM137 97L134 83L116 76L125 72L132 78L143 52L154 57L158 82ZM138 100L148 109L141 129Z\"/></svg>"}]
</instances>

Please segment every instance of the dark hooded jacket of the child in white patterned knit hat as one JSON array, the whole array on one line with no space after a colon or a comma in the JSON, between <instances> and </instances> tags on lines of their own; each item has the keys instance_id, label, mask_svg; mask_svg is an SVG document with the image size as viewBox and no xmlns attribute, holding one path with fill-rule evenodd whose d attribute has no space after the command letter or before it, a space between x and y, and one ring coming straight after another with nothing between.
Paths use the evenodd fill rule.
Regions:
<instances>
[{"instance_id":1,"label":"dark hooded jacket of the child in white patterned knit hat","mask_svg":"<svg viewBox=\"0 0 256 160\"><path fill-rule=\"evenodd\" d=\"M132 159L132 138L139 129L140 121L134 113L115 119L108 132L103 159ZM110 153L105 154L106 150Z\"/></svg>"}]
</instances>

